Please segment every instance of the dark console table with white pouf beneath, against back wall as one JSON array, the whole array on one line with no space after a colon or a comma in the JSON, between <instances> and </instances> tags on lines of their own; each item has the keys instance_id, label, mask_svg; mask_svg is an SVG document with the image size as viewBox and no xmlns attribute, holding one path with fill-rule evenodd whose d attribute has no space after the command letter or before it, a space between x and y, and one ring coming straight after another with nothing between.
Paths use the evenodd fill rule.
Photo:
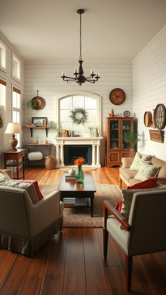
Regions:
<instances>
[{"instance_id":1,"label":"dark console table with white pouf beneath, against back wall","mask_svg":"<svg viewBox=\"0 0 166 295\"><path fill-rule=\"evenodd\" d=\"M39 127L38 127L39 128ZM45 165L45 159L42 159L42 160L29 160L28 159L28 153L30 151L30 149L39 149L41 150L42 148L47 148L48 149L48 155L50 156L51 155L51 145L52 143L27 143L25 145L25 149L26 149L26 152L25 152L25 168L26 168L26 165L29 163L33 163L33 165L37 164L37 163L43 163L43 165Z\"/></svg>"}]
</instances>

